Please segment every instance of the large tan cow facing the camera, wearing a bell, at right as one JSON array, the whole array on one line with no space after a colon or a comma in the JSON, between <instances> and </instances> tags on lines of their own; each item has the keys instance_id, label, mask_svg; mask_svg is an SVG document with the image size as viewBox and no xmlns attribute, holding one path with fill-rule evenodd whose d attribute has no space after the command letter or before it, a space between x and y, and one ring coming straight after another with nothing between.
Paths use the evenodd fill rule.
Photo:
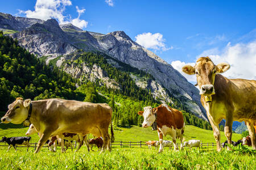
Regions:
<instances>
[{"instance_id":1,"label":"large tan cow facing the camera, wearing a bell, at right","mask_svg":"<svg viewBox=\"0 0 256 170\"><path fill-rule=\"evenodd\" d=\"M233 121L246 121L255 150L253 125L256 121L256 81L228 79L220 74L229 68L228 63L214 65L209 57L200 57L195 66L186 65L182 70L189 75L196 74L196 85L199 86L201 103L207 111L208 120L212 125L217 151L221 151L218 124L222 119L226 120L224 133L229 144L232 141Z\"/></svg>"}]
</instances>

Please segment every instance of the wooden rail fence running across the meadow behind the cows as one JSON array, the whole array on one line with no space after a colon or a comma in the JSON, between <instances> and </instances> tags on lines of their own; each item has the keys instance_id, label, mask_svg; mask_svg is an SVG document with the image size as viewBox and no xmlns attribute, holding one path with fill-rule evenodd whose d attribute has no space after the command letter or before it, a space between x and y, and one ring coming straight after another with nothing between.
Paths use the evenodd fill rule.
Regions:
<instances>
[{"instance_id":1,"label":"wooden rail fence running across the meadow behind the cows","mask_svg":"<svg viewBox=\"0 0 256 170\"><path fill-rule=\"evenodd\" d=\"M30 143L30 147L34 147L34 150L36 150L36 146L37 146L38 143ZM75 142L72 142L72 145L74 146L74 148L76 148L77 146L77 143L76 141ZM113 142L110 144L111 146L120 146L121 148L122 147L146 147L146 142L143 142L143 141L138 141L138 142L123 142L123 141L119 141L119 142ZM9 145L7 145L7 143L5 143L5 145L0 145L0 147L9 147ZM173 146L173 145L172 145ZM177 143L177 146L179 147L180 146L180 143ZM200 143L200 147L202 148L213 148L214 146L216 146L216 143L203 143L201 142ZM16 147L27 147L27 146L16 146ZM44 145L43 147L48 147L47 145ZM184 146L184 147L187 147L187 146Z\"/></svg>"}]
</instances>

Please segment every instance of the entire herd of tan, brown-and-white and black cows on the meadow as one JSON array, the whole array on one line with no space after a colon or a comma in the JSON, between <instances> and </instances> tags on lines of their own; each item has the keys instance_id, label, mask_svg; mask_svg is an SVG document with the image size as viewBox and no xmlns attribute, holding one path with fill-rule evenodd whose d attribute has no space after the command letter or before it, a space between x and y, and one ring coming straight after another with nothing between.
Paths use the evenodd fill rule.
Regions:
<instances>
[{"instance_id":1,"label":"entire herd of tan, brown-and-white and black cows on the meadow","mask_svg":"<svg viewBox=\"0 0 256 170\"><path fill-rule=\"evenodd\" d=\"M228 139L226 143L232 144L233 121L245 121L250 134L251 146L255 150L256 81L228 79L220 74L229 68L228 63L214 65L209 57L200 57L195 66L186 65L183 67L183 71L190 75L196 74L197 84L195 86L199 86L201 103L207 111L208 120L212 125L217 151L221 150L218 124L222 119L226 120L224 128L225 136ZM64 139L77 141L79 143L77 150L83 143L89 150L89 141L85 140L87 134L101 137L97 138L102 140L101 151L110 150L110 142L114 141L112 108L108 104L64 99L31 101L18 97L8 108L9 110L1 118L1 122L31 124L29 129L31 131L28 130L27 133L37 132L40 137L35 153L40 151L47 140L50 144L54 143L52 142L53 138L60 143L62 152L65 152ZM170 147L171 144L174 145L174 150L179 150L176 139L180 139L180 149L183 148L183 145L200 147L198 144L200 141L197 140L183 143L185 124L183 114L177 109L161 104L156 108L144 107L143 111L139 111L138 114L144 118L143 128L156 125L159 142L155 142L154 145L158 146L157 143L159 143L159 152L163 151L164 146L169 145ZM111 138L108 132L109 125L111 126ZM172 142L168 143L163 140L163 136L167 134L171 135ZM20 143L18 142L20 139L7 138L3 140L9 141L9 143L17 140L17 144ZM228 149L231 150L229 147Z\"/></svg>"}]
</instances>

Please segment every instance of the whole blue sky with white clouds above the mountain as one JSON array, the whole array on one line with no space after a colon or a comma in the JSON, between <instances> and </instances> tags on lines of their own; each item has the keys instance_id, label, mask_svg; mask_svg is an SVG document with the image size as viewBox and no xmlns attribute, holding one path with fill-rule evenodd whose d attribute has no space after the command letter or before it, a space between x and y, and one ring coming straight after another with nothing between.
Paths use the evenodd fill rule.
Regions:
<instances>
[{"instance_id":1,"label":"whole blue sky with white clouds above the mountain","mask_svg":"<svg viewBox=\"0 0 256 170\"><path fill-rule=\"evenodd\" d=\"M256 1L0 0L0 12L55 18L86 31L125 31L185 75L184 65L209 56L228 62L228 78L256 79ZM3 5L4 4L4 5Z\"/></svg>"}]
</instances>

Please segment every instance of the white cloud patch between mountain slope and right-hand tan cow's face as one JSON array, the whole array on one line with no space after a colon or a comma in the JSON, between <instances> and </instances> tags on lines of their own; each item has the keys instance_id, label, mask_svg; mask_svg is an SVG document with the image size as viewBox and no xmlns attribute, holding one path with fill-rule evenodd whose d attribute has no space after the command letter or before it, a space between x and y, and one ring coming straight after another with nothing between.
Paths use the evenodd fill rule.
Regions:
<instances>
[{"instance_id":1,"label":"white cloud patch between mountain slope and right-hand tan cow's face","mask_svg":"<svg viewBox=\"0 0 256 170\"><path fill-rule=\"evenodd\" d=\"M185 63L185 62L181 62L179 60L176 60L176 61L172 61L171 65L172 65L172 67L174 67L174 69L179 71L180 74L182 74L188 80L188 82L193 82L193 83L196 82L196 75L188 75L188 74L185 74L182 71L183 66L185 66L185 65L195 66L196 63Z\"/></svg>"}]
</instances>

